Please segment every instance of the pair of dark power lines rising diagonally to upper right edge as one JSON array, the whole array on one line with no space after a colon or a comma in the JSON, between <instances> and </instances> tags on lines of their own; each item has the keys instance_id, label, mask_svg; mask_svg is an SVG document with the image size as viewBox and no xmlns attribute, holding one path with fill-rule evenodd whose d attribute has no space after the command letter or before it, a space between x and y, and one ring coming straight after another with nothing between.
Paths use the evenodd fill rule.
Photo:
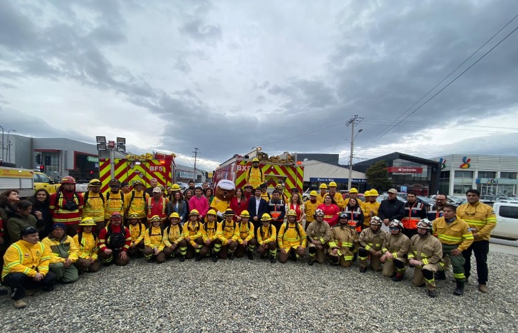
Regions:
<instances>
[{"instance_id":1,"label":"pair of dark power lines rising diagonally to upper right edge","mask_svg":"<svg viewBox=\"0 0 518 333\"><path fill-rule=\"evenodd\" d=\"M423 95L423 97L421 97L416 103L412 104L412 106L410 106L407 111L405 111L403 114L401 114L399 117L396 118L396 120L398 120L400 117L402 117L403 115L405 115L405 113L407 113L408 111L410 111L411 108L413 108L414 106L416 106L416 104L418 104L418 102L420 102L422 99L424 99L427 95L429 95L429 93L432 93L432 91L434 91L434 89L439 86L441 83L443 83L445 81L445 79L447 79L448 77L450 77L457 69L459 69L461 66L463 66L463 64L466 63L466 61L468 61L469 59L471 59L473 57L473 55L475 55L476 53L479 52L479 50L481 50L481 48L483 48L486 44L488 44L495 36L497 36L499 34L499 32L501 32L504 28L506 28L512 21L514 21L516 18L518 17L518 15L516 15L515 17L513 17L505 26L503 26L503 28L501 28L497 33L495 33L490 39L488 39L488 41L486 41L480 48L478 48L472 55L470 55L470 57L468 57L468 59L465 59L465 61L463 61L462 64L460 64L459 66L457 66L454 70L452 70L452 72L450 74L448 74L443 80L441 80L441 82L439 82L438 84L436 84L436 86L434 86L434 88L432 88L430 91L428 91L425 95ZM516 30L518 30L518 27L515 28L514 30L512 30L508 35L506 35L506 37L503 37L503 39L501 39L501 41L499 41L495 46L493 46L492 48L490 48L490 50L488 50L488 52L484 53L479 59L477 59L477 61L475 61L473 64L471 64L468 68L466 68L461 74L457 75L449 84L447 84L446 86L444 86L443 88L441 88L440 91L438 91L437 93L435 93L434 95L432 95L432 97L430 97L429 99L427 99L426 102L424 102L423 104L421 104L420 106L418 106L418 108L416 108L414 111L412 111L411 113L409 113L409 115L407 115L406 117L403 118L403 120L407 119L409 116L413 115L414 113L416 113L416 111L418 111L421 107L423 107L425 104L427 104L430 100L432 100L434 97L436 97L436 95L438 95L439 93L441 93L442 91L445 90L445 88L447 88L448 86L450 86L453 82L456 81L456 79L459 79L459 77L461 77L464 73L466 73L468 70L470 70L470 68L472 68L474 65L476 65L479 61L481 61L481 59L483 59L486 55L488 55L492 50L494 50L494 48L496 48L497 46L499 46L503 41L505 41L510 35L512 35L512 33L514 33ZM394 122L396 122L396 120L394 120ZM381 133L380 135L378 135L377 137L375 137L373 140L371 140L367 146L373 144L374 142L380 140L381 137L385 136L387 133L389 133L389 131L391 131L392 129L394 129L396 126L398 126L398 124L400 124L401 122L403 122L403 120L401 120L400 122L396 123L394 126L391 126L392 124L394 124L394 122L392 122L392 124L390 124L389 126L387 126L387 128L385 130L383 130L384 133ZM390 127L391 126L391 127ZM388 129L390 127L390 129Z\"/></svg>"}]
</instances>

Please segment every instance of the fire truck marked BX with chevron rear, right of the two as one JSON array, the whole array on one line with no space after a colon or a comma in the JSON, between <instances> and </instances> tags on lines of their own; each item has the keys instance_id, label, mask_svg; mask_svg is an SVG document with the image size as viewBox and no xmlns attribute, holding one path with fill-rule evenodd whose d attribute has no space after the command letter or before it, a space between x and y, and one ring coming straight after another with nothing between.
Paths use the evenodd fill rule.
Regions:
<instances>
[{"instance_id":1,"label":"fire truck marked BX with chevron rear, right of the two","mask_svg":"<svg viewBox=\"0 0 518 333\"><path fill-rule=\"evenodd\" d=\"M290 198L290 190L296 188L302 193L304 184L304 167L302 161L297 161L297 154L285 152L281 155L268 156L257 147L246 155L234 155L229 160L220 164L214 171L213 184L216 186L219 180L228 179L236 184L236 188L243 188L246 184L248 169L252 167L252 159L259 160L259 168L263 171L264 180L268 183L268 191L271 192L277 184L281 184L284 194Z\"/></svg>"}]
</instances>

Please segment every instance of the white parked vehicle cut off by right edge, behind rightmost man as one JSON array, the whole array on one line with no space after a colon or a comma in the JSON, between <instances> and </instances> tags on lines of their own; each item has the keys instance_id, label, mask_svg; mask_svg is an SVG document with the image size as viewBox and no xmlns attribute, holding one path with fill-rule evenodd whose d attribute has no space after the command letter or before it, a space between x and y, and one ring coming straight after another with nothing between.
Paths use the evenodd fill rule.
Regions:
<instances>
[{"instance_id":1,"label":"white parked vehicle cut off by right edge, behind rightmost man","mask_svg":"<svg viewBox=\"0 0 518 333\"><path fill-rule=\"evenodd\" d=\"M494 202L494 213L497 214L497 226L491 236L518 240L518 202Z\"/></svg>"}]
</instances>

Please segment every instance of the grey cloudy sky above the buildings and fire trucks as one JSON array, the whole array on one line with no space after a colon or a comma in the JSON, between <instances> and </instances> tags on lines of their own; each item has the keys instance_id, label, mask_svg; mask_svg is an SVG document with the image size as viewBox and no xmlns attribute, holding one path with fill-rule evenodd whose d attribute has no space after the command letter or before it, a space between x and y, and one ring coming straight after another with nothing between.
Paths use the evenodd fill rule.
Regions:
<instances>
[{"instance_id":1,"label":"grey cloudy sky above the buildings and fire trucks","mask_svg":"<svg viewBox=\"0 0 518 333\"><path fill-rule=\"evenodd\" d=\"M353 115L357 160L517 155L518 32L409 115L517 14L513 0L0 1L0 124L126 137L187 165L197 147L209 170L254 146L346 164Z\"/></svg>"}]
</instances>

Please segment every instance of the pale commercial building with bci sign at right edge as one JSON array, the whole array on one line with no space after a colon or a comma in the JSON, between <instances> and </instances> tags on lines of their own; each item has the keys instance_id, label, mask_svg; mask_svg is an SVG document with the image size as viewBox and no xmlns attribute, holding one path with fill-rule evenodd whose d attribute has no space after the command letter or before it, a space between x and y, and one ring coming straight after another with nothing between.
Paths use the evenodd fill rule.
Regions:
<instances>
[{"instance_id":1,"label":"pale commercial building with bci sign at right edge","mask_svg":"<svg viewBox=\"0 0 518 333\"><path fill-rule=\"evenodd\" d=\"M441 193L457 195L469 189L495 196L518 193L518 156L461 154L434 160L441 167Z\"/></svg>"}]
</instances>

